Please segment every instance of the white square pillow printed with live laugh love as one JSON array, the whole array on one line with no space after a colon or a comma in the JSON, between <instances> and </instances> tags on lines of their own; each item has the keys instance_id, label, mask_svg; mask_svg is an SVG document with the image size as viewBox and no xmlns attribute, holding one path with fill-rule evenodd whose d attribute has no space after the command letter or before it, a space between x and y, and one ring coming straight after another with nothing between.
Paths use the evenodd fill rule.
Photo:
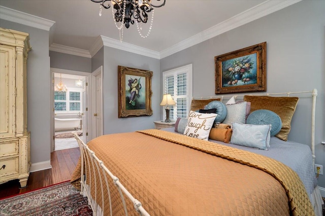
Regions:
<instances>
[{"instance_id":1,"label":"white square pillow printed with live laugh love","mask_svg":"<svg viewBox=\"0 0 325 216\"><path fill-rule=\"evenodd\" d=\"M208 140L216 116L216 113L200 113L191 110L184 135L200 140Z\"/></svg>"}]
</instances>

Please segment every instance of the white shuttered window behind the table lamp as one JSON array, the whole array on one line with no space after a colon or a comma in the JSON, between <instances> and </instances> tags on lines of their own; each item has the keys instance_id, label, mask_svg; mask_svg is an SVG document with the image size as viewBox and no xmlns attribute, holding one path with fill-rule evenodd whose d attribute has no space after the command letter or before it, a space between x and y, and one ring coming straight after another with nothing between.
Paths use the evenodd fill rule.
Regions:
<instances>
[{"instance_id":1,"label":"white shuttered window behind the table lamp","mask_svg":"<svg viewBox=\"0 0 325 216\"><path fill-rule=\"evenodd\" d=\"M170 107L170 118L186 118L192 98L192 65L163 72L163 93L171 94L176 105ZM164 119L166 112L163 112Z\"/></svg>"}]
</instances>

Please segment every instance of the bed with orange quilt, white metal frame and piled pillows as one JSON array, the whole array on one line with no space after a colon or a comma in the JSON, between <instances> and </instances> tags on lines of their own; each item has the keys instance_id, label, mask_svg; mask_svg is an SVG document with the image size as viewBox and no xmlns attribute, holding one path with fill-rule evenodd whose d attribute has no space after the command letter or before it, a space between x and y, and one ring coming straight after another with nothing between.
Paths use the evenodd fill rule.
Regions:
<instances>
[{"instance_id":1,"label":"bed with orange quilt, white metal frame and piled pillows","mask_svg":"<svg viewBox=\"0 0 325 216\"><path fill-rule=\"evenodd\" d=\"M290 131L286 118L291 120L299 100L287 97L293 94L311 96L311 148L286 140ZM81 159L71 182L88 197L94 215L321 215L322 200L313 169L317 91L285 95L296 105L289 106L278 94L200 98L192 100L191 110L196 111L187 119L177 119L173 128L104 135L87 145L75 136ZM239 97L243 101L236 102ZM267 104L256 104L255 97L284 98L284 102L267 105L271 110L281 108L269 110L278 113L275 118L281 116L280 127L272 119L261 134L268 124L246 124L255 110L259 112ZM205 113L211 110L207 105L217 100L220 102L212 103L216 104L212 113ZM219 113L220 106L228 111L225 116ZM239 107L245 111L239 112ZM291 115L286 111L283 117L283 109L291 109ZM208 118L196 122L197 115L211 115L214 137L210 129L207 140L193 138L196 134L189 126L197 131L208 123ZM220 116L224 117L222 123ZM238 120L241 118L245 123ZM231 122L231 128L223 122ZM251 139L241 145L246 137L256 136L246 134L255 128L259 138L266 134L256 142L265 146L250 146L256 144ZM187 136L183 135L186 131ZM270 136L271 131L276 134Z\"/></svg>"}]
</instances>

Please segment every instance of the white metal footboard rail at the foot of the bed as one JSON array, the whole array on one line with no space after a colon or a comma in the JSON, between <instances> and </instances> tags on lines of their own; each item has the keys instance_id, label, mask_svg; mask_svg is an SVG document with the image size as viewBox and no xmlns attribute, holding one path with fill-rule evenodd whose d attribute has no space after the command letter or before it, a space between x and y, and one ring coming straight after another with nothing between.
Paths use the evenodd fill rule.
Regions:
<instances>
[{"instance_id":1,"label":"white metal footboard rail at the foot of the bed","mask_svg":"<svg viewBox=\"0 0 325 216\"><path fill-rule=\"evenodd\" d=\"M88 204L90 205L91 209L93 210L93 215L98 215L97 211L100 211L99 214L101 215L108 215L106 212L104 213L104 190L107 190L107 194L109 197L109 205L110 205L110 215L112 215L112 200L111 200L111 194L110 194L110 188L108 184L108 178L107 175L112 179L113 184L117 187L118 192L120 194L120 198L124 207L125 215L128 215L126 203L124 199L124 195L131 200L131 202L134 205L135 210L140 215L150 215L142 206L141 202L137 200L131 193L129 193L126 188L122 185L122 183L119 181L119 179L112 174L112 172L105 166L103 161L101 161L98 157L96 157L95 153L88 148L88 146L79 138L77 134L74 133L74 137L78 142L79 149L80 149L80 157L81 157L81 178L80 178L80 185L81 185L81 194L84 196L87 196L88 198ZM90 175L91 174L91 175ZM103 175L101 175L103 174ZM106 175L107 174L107 175ZM95 202L92 202L91 200L98 200L98 193L95 189L94 197L92 197L91 193L91 187L87 186L86 184L86 177L89 177L88 183L91 185L92 183L95 185L95 188L97 187L97 180L96 178L99 178L100 182L100 188L101 188L101 200L102 200L102 209L98 209L98 204ZM104 178L102 178L104 177ZM124 194L124 195L123 195Z\"/></svg>"}]
</instances>

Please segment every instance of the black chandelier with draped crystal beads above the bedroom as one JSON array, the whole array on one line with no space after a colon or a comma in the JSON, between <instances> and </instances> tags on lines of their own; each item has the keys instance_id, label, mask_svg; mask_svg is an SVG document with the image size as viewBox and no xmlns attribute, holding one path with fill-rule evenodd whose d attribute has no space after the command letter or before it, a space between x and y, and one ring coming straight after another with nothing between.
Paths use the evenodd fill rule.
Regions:
<instances>
[{"instance_id":1,"label":"black chandelier with draped crystal beads above the bedroom","mask_svg":"<svg viewBox=\"0 0 325 216\"><path fill-rule=\"evenodd\" d=\"M115 26L120 32L121 42L123 40L124 24L125 27L128 28L130 26L130 23L134 24L136 22L139 35L143 38L149 36L150 31L152 29L152 23L153 23L153 14L154 14L153 7L160 8L164 6L166 2L166 0L155 0L155 1L158 2L162 1L163 3L161 3L160 5L154 5L152 4L151 0L91 0L91 2L94 3L101 3L100 16L102 16L102 6L105 9L109 9L111 7L109 2L113 5L112 14L114 17ZM150 27L148 32L144 35L142 34L142 23L147 23L148 13L150 12L152 12ZM117 25L117 22L121 22L121 23Z\"/></svg>"}]
</instances>

